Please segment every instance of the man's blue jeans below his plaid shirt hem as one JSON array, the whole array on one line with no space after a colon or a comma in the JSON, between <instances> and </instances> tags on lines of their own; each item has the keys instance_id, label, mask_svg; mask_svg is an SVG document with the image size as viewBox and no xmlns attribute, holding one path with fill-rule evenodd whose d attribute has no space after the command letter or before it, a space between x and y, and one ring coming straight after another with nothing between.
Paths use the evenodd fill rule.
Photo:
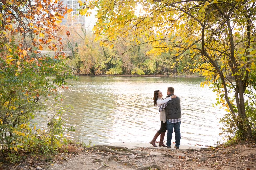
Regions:
<instances>
[{"instance_id":1,"label":"man's blue jeans below his plaid shirt hem","mask_svg":"<svg viewBox=\"0 0 256 170\"><path fill-rule=\"evenodd\" d=\"M175 146L179 147L179 144L181 143L181 122L177 123L171 123L168 120L166 120L166 128L167 128L167 139L166 139L166 145L171 146L172 143L172 132L174 128L175 133Z\"/></svg>"}]
</instances>

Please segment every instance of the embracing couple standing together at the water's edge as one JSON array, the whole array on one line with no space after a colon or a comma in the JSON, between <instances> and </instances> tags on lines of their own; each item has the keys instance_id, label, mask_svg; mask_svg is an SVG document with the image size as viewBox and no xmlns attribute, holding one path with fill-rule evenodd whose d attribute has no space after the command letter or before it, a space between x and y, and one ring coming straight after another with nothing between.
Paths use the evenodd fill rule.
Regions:
<instances>
[{"instance_id":1,"label":"embracing couple standing together at the water's edge","mask_svg":"<svg viewBox=\"0 0 256 170\"><path fill-rule=\"evenodd\" d=\"M162 98L162 92L159 90L154 91L154 106L159 107L161 127L156 132L154 138L150 142L153 146L157 147L155 144L156 138L160 135L160 141L158 146L163 146L171 148L172 132L174 129L175 133L175 146L174 148L179 149L179 144L181 142L181 99L174 95L174 88L167 88L166 98ZM167 140L166 145L164 144L165 132L167 130Z\"/></svg>"}]
</instances>

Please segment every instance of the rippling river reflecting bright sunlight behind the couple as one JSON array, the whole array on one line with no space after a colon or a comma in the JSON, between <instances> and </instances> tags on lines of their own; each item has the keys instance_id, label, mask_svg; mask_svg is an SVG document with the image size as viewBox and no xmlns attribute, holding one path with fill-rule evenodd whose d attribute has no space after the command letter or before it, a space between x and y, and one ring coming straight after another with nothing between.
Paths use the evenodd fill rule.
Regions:
<instances>
[{"instance_id":1,"label":"rippling river reflecting bright sunlight behind the couple","mask_svg":"<svg viewBox=\"0 0 256 170\"><path fill-rule=\"evenodd\" d=\"M181 98L181 143L214 145L221 138L219 118L225 111L213 108L216 94L208 86L200 87L202 81L201 77L80 76L68 90L59 91L62 103L75 109L65 116L75 132L65 135L85 143L151 141L160 128L153 92L160 90L166 96L166 88L172 86Z\"/></svg>"}]
</instances>

